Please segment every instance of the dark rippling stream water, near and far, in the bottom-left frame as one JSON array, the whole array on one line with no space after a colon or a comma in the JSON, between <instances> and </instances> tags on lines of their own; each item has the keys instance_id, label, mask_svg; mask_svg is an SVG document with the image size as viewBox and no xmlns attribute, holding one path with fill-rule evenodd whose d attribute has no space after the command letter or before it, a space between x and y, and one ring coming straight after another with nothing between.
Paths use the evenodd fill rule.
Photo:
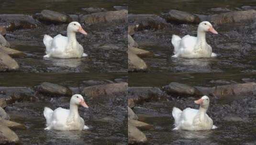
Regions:
<instances>
[{"instance_id":1,"label":"dark rippling stream water, near and far, in the bottom-left frame","mask_svg":"<svg viewBox=\"0 0 256 145\"><path fill-rule=\"evenodd\" d=\"M42 82L78 88L86 80L110 80L126 77L126 73L2 73L0 86L33 87ZM6 107L11 120L25 124L27 130L14 130L23 145L126 145L127 99L125 94L84 96L89 109L79 108L80 116L90 127L87 131L45 131L44 107L69 108L70 97L34 94L33 102L16 102ZM39 99L38 99L39 98Z\"/></svg>"}]
</instances>

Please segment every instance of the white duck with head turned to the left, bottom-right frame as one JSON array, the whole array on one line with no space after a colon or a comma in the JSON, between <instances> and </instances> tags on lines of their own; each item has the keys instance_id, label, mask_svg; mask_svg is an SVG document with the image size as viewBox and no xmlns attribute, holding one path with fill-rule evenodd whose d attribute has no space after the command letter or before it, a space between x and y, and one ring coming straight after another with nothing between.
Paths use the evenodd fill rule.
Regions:
<instances>
[{"instance_id":1,"label":"white duck with head turned to the left, bottom-right frame","mask_svg":"<svg viewBox=\"0 0 256 145\"><path fill-rule=\"evenodd\" d=\"M206 114L206 111L210 104L208 96L203 96L199 100L195 101L196 104L200 104L199 110L186 108L183 111L173 107L172 116L175 120L175 128L173 130L209 130L217 128L213 125L212 119Z\"/></svg>"}]
</instances>

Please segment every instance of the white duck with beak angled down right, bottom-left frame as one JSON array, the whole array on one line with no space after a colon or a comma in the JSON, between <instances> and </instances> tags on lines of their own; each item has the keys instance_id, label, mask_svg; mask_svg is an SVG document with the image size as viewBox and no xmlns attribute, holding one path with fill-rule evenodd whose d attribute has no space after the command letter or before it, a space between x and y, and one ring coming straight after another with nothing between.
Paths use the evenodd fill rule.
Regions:
<instances>
[{"instance_id":1,"label":"white duck with beak angled down right, bottom-left frame","mask_svg":"<svg viewBox=\"0 0 256 145\"><path fill-rule=\"evenodd\" d=\"M79 105L88 108L88 105L84 102L83 96L74 94L70 99L70 110L58 107L53 111L52 109L45 107L44 116L47 126L45 130L89 129L89 127L84 124L84 119L78 114Z\"/></svg>"}]
</instances>

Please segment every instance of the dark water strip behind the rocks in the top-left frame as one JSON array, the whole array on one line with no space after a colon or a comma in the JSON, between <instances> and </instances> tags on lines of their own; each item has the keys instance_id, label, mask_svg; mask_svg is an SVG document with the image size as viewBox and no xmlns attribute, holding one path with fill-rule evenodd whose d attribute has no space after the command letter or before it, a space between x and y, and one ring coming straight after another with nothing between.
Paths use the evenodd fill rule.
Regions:
<instances>
[{"instance_id":1,"label":"dark water strip behind the rocks in the top-left frame","mask_svg":"<svg viewBox=\"0 0 256 145\"><path fill-rule=\"evenodd\" d=\"M114 10L113 6L127 6L127 0L0 0L0 3L0 13L10 14L34 14L44 9L77 13L87 7Z\"/></svg>"}]
</instances>

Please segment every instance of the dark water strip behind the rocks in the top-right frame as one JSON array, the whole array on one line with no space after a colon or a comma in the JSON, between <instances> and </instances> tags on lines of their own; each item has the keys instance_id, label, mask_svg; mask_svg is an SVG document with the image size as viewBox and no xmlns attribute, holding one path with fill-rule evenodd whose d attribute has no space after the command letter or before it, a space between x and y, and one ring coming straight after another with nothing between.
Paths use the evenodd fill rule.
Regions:
<instances>
[{"instance_id":1,"label":"dark water strip behind the rocks in the top-right frame","mask_svg":"<svg viewBox=\"0 0 256 145\"><path fill-rule=\"evenodd\" d=\"M256 0L129 0L129 13L160 14L171 9L206 13L211 8L240 8L256 5Z\"/></svg>"}]
</instances>

